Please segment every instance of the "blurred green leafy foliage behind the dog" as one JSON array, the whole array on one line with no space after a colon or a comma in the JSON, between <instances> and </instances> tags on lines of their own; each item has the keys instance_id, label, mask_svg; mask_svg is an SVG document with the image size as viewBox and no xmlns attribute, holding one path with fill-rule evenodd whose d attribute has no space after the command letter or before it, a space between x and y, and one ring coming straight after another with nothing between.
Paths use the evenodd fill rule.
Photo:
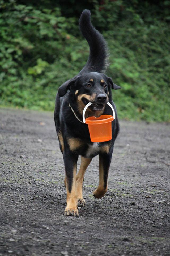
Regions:
<instances>
[{"instance_id":1,"label":"blurred green leafy foliage behind the dog","mask_svg":"<svg viewBox=\"0 0 170 256\"><path fill-rule=\"evenodd\" d=\"M89 49L78 18L86 4L71 2L0 1L1 105L53 110L58 87L82 69ZM121 86L113 90L118 116L170 121L170 1L101 2L88 8L108 42L107 75Z\"/></svg>"}]
</instances>

